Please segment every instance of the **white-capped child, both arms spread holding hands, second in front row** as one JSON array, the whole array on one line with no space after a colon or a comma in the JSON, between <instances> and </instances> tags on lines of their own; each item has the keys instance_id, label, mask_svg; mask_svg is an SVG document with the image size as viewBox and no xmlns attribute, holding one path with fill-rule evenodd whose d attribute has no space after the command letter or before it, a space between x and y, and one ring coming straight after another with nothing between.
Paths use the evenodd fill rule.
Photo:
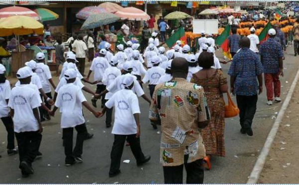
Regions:
<instances>
[{"instance_id":1,"label":"white-capped child, both arms spread holding hands, second in front row","mask_svg":"<svg viewBox=\"0 0 299 185\"><path fill-rule=\"evenodd\" d=\"M99 117L99 112L96 112L86 101L86 98L81 91L81 88L75 86L77 72L74 69L65 71L64 78L67 81L60 88L57 94L55 106L51 112L54 115L55 111L60 108L61 112L61 128L62 137L64 140L65 165L71 166L76 161L83 162L83 142L87 135L85 120L82 113L82 104L91 111L96 117ZM73 130L77 131L76 146L73 149Z\"/></svg>"}]
</instances>

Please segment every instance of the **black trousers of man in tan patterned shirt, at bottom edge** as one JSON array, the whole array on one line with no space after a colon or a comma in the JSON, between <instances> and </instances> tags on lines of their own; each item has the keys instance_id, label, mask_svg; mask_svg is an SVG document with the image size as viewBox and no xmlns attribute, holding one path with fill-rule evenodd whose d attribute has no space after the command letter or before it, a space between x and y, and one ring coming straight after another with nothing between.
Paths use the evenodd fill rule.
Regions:
<instances>
[{"instance_id":1,"label":"black trousers of man in tan patterned shirt, at bottom edge","mask_svg":"<svg viewBox=\"0 0 299 185\"><path fill-rule=\"evenodd\" d=\"M187 172L186 184L203 184L204 169L202 164L202 159L199 159L192 163L185 163L180 166L163 167L164 184L183 184L184 166Z\"/></svg>"}]
</instances>

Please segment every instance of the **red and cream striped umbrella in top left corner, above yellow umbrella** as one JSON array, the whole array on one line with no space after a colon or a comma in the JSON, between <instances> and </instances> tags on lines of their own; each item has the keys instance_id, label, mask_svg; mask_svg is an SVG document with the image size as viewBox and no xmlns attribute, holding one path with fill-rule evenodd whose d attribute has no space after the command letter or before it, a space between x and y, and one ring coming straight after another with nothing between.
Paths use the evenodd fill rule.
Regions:
<instances>
[{"instance_id":1,"label":"red and cream striped umbrella in top left corner, above yellow umbrella","mask_svg":"<svg viewBox=\"0 0 299 185\"><path fill-rule=\"evenodd\" d=\"M0 9L0 18L5 18L13 15L25 15L40 20L39 15L31 9L20 6L9 6Z\"/></svg>"}]
</instances>

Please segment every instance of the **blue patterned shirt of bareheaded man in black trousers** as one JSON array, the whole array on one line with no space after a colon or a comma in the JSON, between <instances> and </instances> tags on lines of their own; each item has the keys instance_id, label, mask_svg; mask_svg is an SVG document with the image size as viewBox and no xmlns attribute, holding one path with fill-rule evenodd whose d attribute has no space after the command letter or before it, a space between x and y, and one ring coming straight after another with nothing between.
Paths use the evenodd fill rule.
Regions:
<instances>
[{"instance_id":1,"label":"blue patterned shirt of bareheaded man in black trousers","mask_svg":"<svg viewBox=\"0 0 299 185\"><path fill-rule=\"evenodd\" d=\"M242 48L233 58L228 75L235 77L234 91L237 95L258 93L257 76L263 73L259 56L249 48Z\"/></svg>"}]
</instances>

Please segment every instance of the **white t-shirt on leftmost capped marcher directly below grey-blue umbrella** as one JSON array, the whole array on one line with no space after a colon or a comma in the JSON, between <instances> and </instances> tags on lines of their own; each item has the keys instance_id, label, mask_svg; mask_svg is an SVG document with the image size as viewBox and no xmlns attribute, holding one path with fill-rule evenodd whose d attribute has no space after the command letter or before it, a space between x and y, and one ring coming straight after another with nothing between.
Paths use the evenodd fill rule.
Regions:
<instances>
[{"instance_id":1,"label":"white t-shirt on leftmost capped marcher directly below grey-blue umbrella","mask_svg":"<svg viewBox=\"0 0 299 185\"><path fill-rule=\"evenodd\" d=\"M107 59L104 57L97 57L93 59L90 70L94 72L94 81L102 81L105 70L110 66ZM98 84L102 85L102 82Z\"/></svg>"}]
</instances>

